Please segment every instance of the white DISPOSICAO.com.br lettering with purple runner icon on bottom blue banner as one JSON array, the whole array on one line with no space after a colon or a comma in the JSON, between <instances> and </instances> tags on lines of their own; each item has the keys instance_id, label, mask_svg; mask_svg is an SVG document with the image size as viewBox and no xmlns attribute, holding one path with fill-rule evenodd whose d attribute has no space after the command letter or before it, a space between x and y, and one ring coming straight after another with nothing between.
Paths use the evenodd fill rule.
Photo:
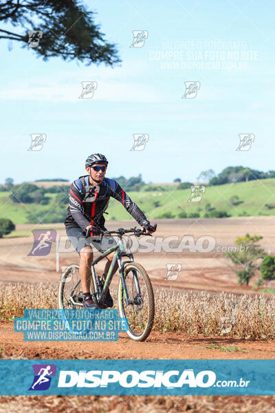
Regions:
<instances>
[{"instance_id":1,"label":"white DISPOSICAO.com.br lettering with purple runner icon on bottom blue banner","mask_svg":"<svg viewBox=\"0 0 275 413\"><path fill-rule=\"evenodd\" d=\"M98 366L98 370L89 370L85 366L83 367L77 370L58 369L59 373L57 374L54 364L33 365L34 379L28 390L49 389L55 375L51 387L52 394L87 394L89 388L93 388L94 390L91 391L96 391L96 394L135 394L135 392L142 394L140 392L144 390L150 394L155 394L155 392L167 394L168 389L171 392L179 392L179 394L186 393L186 389L195 392L194 394L201 394L203 389L206 391L208 388L212 388L213 390L210 392L213 391L213 394L216 394L214 388L217 391L221 388L248 388L250 383L242 378L231 380L225 374L223 374L221 381L219 377L217 379L216 373L212 370L197 371L197 369L186 368L166 370L164 367L159 370L149 370L147 367L147 369L137 371L129 366L128 370L123 371L102 368L100 370L100 366Z\"/></svg>"}]
</instances>

